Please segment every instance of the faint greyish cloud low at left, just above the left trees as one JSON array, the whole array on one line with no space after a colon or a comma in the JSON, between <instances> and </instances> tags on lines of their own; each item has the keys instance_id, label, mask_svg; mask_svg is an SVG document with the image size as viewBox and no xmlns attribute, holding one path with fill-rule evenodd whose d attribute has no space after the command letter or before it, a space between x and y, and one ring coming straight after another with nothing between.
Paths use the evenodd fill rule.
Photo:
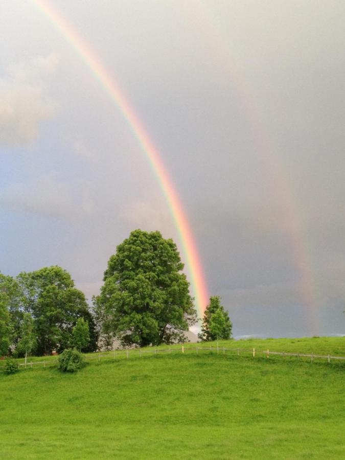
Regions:
<instances>
[{"instance_id":1,"label":"faint greyish cloud low at left, just above the left trees","mask_svg":"<svg viewBox=\"0 0 345 460\"><path fill-rule=\"evenodd\" d=\"M90 215L93 201L87 189L75 192L67 182L44 175L28 183L13 183L0 195L0 207L45 217L76 220Z\"/></svg>"}]
</instances>

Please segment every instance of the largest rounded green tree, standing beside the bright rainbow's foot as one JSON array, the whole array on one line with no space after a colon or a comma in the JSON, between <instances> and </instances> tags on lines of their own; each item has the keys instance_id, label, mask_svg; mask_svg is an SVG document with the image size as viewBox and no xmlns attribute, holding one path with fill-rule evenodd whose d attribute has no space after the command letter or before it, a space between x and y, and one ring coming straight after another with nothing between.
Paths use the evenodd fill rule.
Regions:
<instances>
[{"instance_id":1,"label":"largest rounded green tree, standing beside the bright rainbow's foot","mask_svg":"<svg viewBox=\"0 0 345 460\"><path fill-rule=\"evenodd\" d=\"M106 331L123 345L171 343L196 322L196 310L176 244L159 232L135 230L108 261L95 297Z\"/></svg>"}]
</instances>

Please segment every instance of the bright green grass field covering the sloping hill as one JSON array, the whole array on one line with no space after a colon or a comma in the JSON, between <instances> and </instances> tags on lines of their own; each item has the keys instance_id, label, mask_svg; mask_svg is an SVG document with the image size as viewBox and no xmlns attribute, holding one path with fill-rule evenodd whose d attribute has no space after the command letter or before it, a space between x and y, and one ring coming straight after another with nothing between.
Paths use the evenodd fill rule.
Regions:
<instances>
[{"instance_id":1,"label":"bright green grass field covering the sloping hill","mask_svg":"<svg viewBox=\"0 0 345 460\"><path fill-rule=\"evenodd\" d=\"M345 355L345 338L242 342L219 346ZM345 457L343 361L177 350L0 373L0 457Z\"/></svg>"}]
</instances>

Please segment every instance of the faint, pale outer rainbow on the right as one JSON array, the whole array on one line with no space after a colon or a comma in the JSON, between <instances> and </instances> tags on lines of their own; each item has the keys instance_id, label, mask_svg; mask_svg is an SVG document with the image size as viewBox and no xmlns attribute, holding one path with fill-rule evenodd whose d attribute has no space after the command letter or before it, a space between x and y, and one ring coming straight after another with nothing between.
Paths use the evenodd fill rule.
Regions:
<instances>
[{"instance_id":1,"label":"faint, pale outer rainbow on the right","mask_svg":"<svg viewBox=\"0 0 345 460\"><path fill-rule=\"evenodd\" d=\"M198 18L198 24L201 25L202 31L200 40L205 42L206 47L211 48L212 57L220 63L223 71L228 73L240 96L248 131L260 158L262 175L266 178L271 194L279 205L283 228L290 240L291 261L299 273L297 291L301 304L306 309L309 331L311 334L316 334L321 329L320 318L317 317L319 293L314 280L312 258L306 230L303 226L302 212L293 191L293 181L292 179L289 180L289 173L283 160L274 151L268 129L263 124L256 98L251 95L251 90L243 74L239 72L239 65L236 65L235 57L231 54L226 37L222 36L222 30L217 24L212 5L200 0L191 0L185 2L183 7L192 21L195 21L196 17Z\"/></svg>"}]
</instances>

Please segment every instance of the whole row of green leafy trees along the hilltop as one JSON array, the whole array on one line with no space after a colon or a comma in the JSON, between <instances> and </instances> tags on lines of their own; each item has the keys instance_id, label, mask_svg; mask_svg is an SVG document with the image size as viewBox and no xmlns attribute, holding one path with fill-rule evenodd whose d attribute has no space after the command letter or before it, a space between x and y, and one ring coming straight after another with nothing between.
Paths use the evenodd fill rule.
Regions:
<instances>
[{"instance_id":1,"label":"whole row of green leafy trees along the hilltop","mask_svg":"<svg viewBox=\"0 0 345 460\"><path fill-rule=\"evenodd\" d=\"M83 352L186 340L198 318L176 244L159 232L135 230L108 261L104 284L89 307L70 273L58 266L0 272L0 355ZM232 323L210 298L201 340L230 338Z\"/></svg>"}]
</instances>

